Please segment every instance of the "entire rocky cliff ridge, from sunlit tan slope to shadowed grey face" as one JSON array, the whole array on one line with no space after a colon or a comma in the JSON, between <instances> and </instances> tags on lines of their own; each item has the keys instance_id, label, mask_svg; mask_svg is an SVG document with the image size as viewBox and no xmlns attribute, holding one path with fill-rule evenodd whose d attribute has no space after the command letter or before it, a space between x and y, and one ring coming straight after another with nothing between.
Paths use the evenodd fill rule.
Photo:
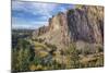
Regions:
<instances>
[{"instance_id":1,"label":"entire rocky cliff ridge, from sunlit tan slope to shadowed grey face","mask_svg":"<svg viewBox=\"0 0 109 73\"><path fill-rule=\"evenodd\" d=\"M71 42L104 42L104 7L82 5L58 13L49 19L48 26L36 29L33 37L45 39L58 48ZM77 46L77 45L76 45Z\"/></svg>"}]
</instances>

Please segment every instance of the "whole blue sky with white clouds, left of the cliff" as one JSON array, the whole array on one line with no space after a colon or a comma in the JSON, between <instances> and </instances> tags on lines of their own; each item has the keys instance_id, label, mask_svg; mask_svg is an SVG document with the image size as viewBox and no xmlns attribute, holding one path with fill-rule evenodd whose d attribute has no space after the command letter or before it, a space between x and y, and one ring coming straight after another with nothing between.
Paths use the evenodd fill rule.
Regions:
<instances>
[{"instance_id":1,"label":"whole blue sky with white clouds, left of the cliff","mask_svg":"<svg viewBox=\"0 0 109 73\"><path fill-rule=\"evenodd\" d=\"M72 4L12 1L12 28L38 28L59 12L73 9Z\"/></svg>"}]
</instances>

